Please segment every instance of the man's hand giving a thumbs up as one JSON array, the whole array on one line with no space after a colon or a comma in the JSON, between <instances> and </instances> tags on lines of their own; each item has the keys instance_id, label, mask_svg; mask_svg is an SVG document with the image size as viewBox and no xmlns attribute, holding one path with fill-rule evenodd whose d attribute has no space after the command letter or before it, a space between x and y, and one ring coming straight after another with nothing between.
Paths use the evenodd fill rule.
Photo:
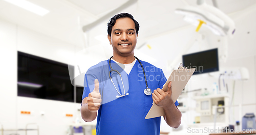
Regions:
<instances>
[{"instance_id":1,"label":"man's hand giving a thumbs up","mask_svg":"<svg viewBox=\"0 0 256 135\"><path fill-rule=\"evenodd\" d=\"M88 109L91 112L96 112L99 109L101 103L101 95L99 93L99 81L98 79L94 80L94 89L91 92L87 99Z\"/></svg>"}]
</instances>

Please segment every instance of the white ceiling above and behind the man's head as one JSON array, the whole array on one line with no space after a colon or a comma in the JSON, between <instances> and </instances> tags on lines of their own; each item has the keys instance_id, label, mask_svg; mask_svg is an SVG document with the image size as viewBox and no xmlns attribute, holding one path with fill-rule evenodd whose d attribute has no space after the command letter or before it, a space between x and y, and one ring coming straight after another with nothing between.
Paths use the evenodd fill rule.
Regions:
<instances>
[{"instance_id":1,"label":"white ceiling above and behind the man's head","mask_svg":"<svg viewBox=\"0 0 256 135\"><path fill-rule=\"evenodd\" d=\"M0 0L0 18L79 47L84 46L82 26L94 22L127 2L127 0L121 2L118 0L28 1L48 9L50 13L45 16L38 16ZM206 3L212 5L211 0L206 0ZM219 9L227 14L245 9L255 3L255 0L217 1ZM196 0L138 0L135 4L123 9L121 12L133 14L140 24L139 38L146 39L187 26L188 24L182 19L183 16L174 13L175 9L186 5L196 5ZM102 29L101 31L90 32L90 39L94 40L94 37L97 35L105 35L107 22L108 20L105 20L102 21L102 24L99 24L99 28Z\"/></svg>"}]
</instances>

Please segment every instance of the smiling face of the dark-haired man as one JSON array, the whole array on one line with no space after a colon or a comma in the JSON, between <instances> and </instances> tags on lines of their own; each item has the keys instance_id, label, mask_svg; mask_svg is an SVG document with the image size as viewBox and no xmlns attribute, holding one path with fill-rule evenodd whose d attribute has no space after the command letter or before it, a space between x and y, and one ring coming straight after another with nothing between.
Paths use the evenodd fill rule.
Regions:
<instances>
[{"instance_id":1,"label":"smiling face of the dark-haired man","mask_svg":"<svg viewBox=\"0 0 256 135\"><path fill-rule=\"evenodd\" d=\"M131 18L117 19L112 27L111 36L108 36L113 53L119 56L134 55L137 37L135 24Z\"/></svg>"}]
</instances>

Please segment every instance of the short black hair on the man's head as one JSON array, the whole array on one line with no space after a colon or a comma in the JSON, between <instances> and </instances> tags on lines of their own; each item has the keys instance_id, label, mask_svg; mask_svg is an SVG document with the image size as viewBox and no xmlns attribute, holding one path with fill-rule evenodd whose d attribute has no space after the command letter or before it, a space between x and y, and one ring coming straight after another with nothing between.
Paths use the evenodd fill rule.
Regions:
<instances>
[{"instance_id":1,"label":"short black hair on the man's head","mask_svg":"<svg viewBox=\"0 0 256 135\"><path fill-rule=\"evenodd\" d=\"M140 29L140 25L138 23L137 20L134 19L133 15L129 14L129 13L120 13L120 14L117 14L115 16L113 16L110 20L109 20L109 23L108 23L108 35L111 36L111 32L112 32L112 28L113 26L116 24L116 20L119 19L119 18L131 18L133 21L134 21L134 24L135 24L135 30L136 30L136 33L138 35L139 33L139 29Z\"/></svg>"}]
</instances>

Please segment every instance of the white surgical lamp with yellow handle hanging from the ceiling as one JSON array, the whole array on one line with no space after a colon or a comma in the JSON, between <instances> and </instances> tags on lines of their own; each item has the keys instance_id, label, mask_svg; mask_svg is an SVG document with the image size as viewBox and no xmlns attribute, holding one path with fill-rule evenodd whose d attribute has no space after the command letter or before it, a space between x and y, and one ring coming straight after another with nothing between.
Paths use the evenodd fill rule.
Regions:
<instances>
[{"instance_id":1,"label":"white surgical lamp with yellow handle hanging from the ceiling","mask_svg":"<svg viewBox=\"0 0 256 135\"><path fill-rule=\"evenodd\" d=\"M216 7L207 5L203 0L197 1L197 6L186 6L175 10L175 13L183 14L184 20L193 25L207 27L214 34L220 36L232 36L235 31L234 21Z\"/></svg>"}]
</instances>

